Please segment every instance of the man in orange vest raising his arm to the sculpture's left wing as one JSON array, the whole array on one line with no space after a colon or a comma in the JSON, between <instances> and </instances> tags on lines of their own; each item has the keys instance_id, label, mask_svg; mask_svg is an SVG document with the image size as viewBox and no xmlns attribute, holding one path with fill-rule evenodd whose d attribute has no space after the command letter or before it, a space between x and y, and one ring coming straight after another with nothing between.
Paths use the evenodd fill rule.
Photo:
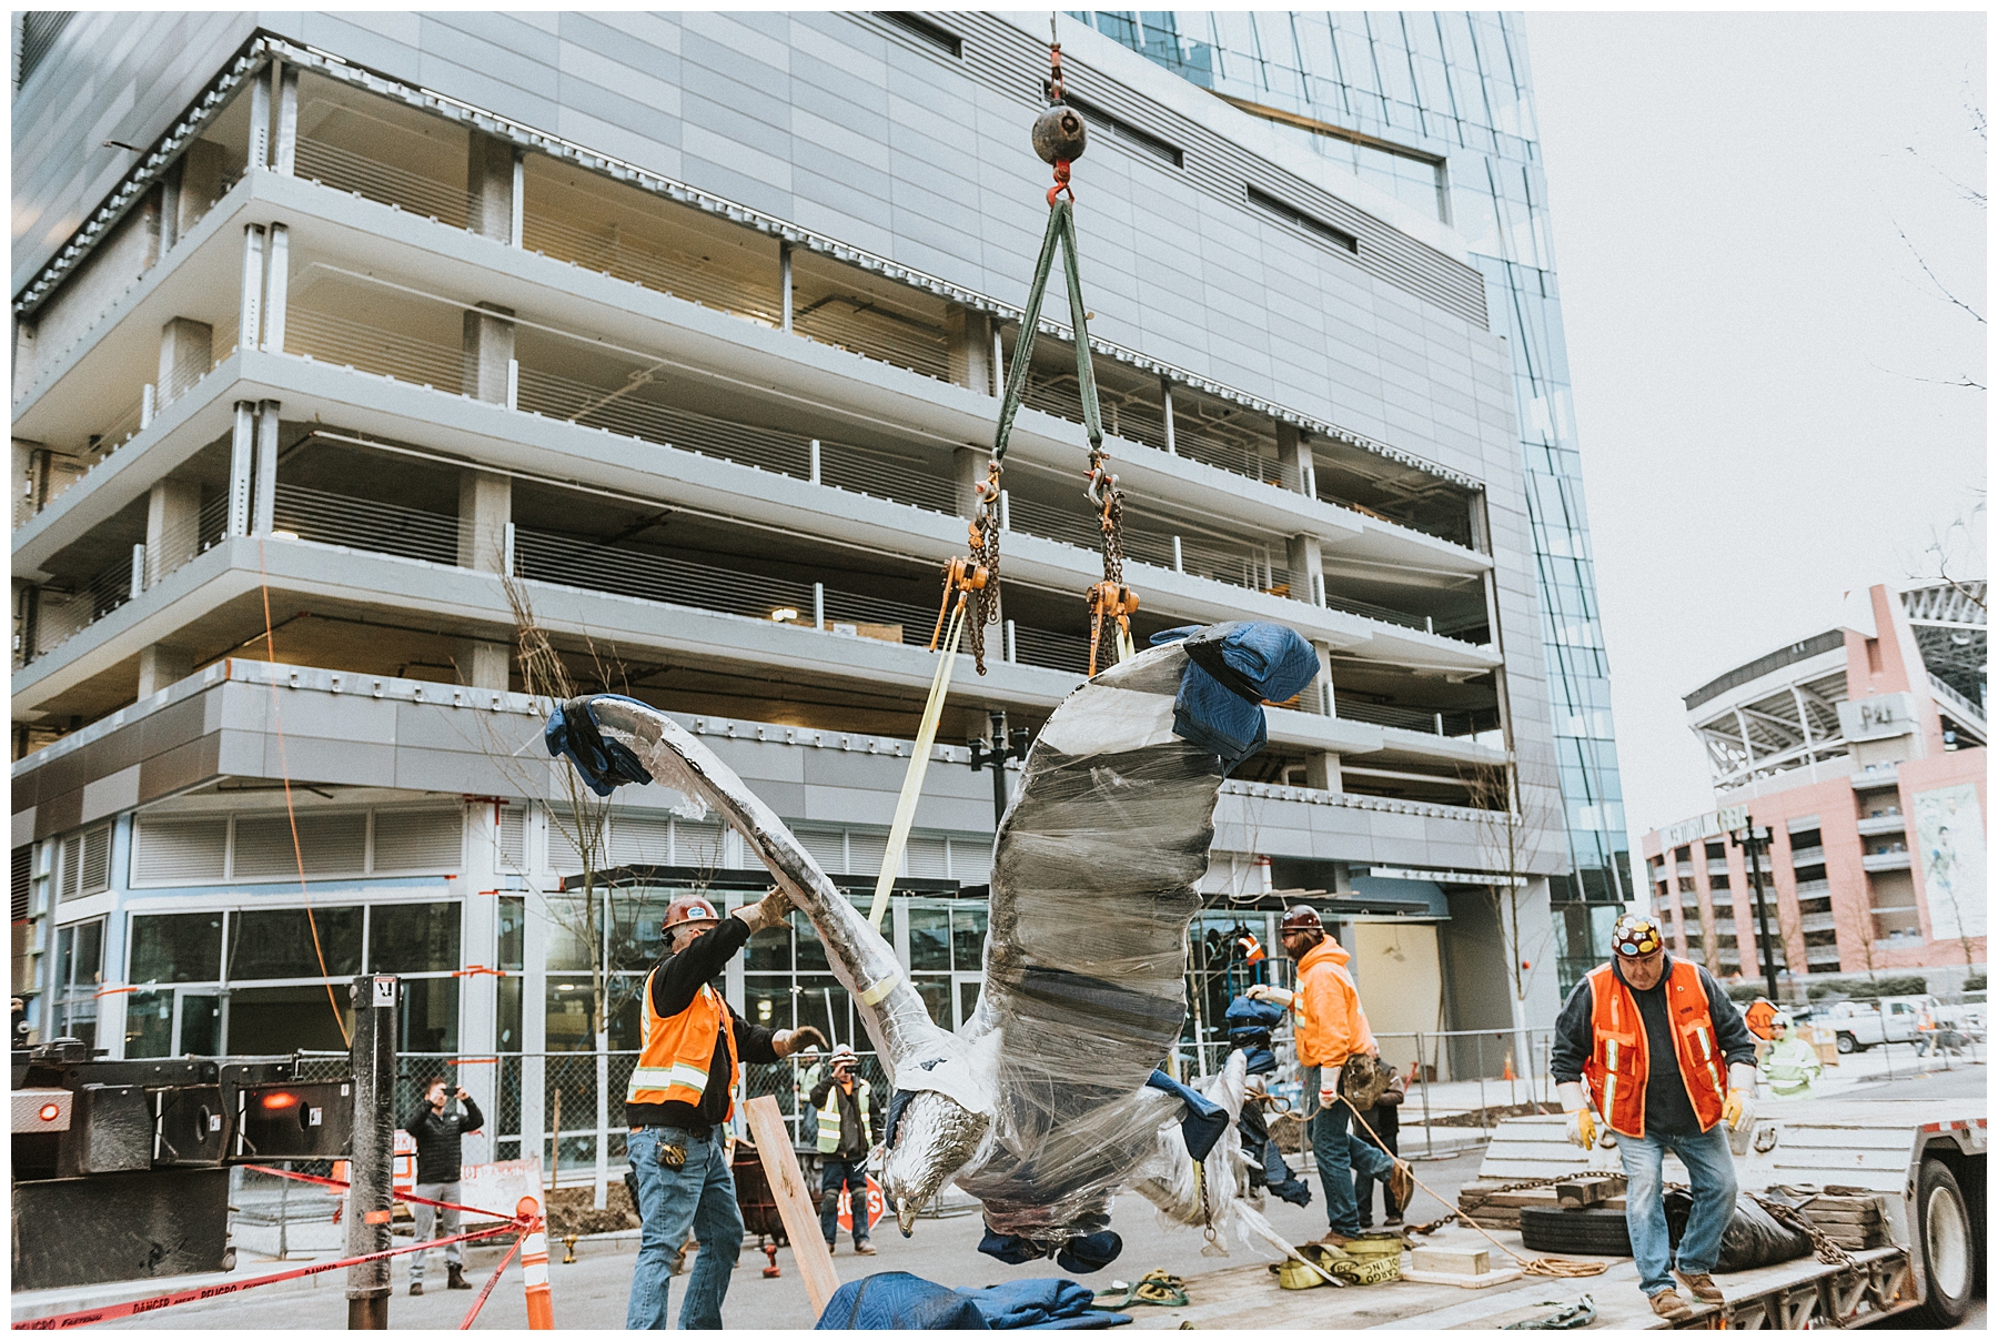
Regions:
<instances>
[{"instance_id":1,"label":"man in orange vest raising his arm to the sculpture's left wing","mask_svg":"<svg viewBox=\"0 0 1998 1341\"><path fill-rule=\"evenodd\" d=\"M705 897L665 907L665 955L645 975L643 1045L625 1089L625 1153L637 1177L639 1239L625 1329L665 1329L671 1259L687 1241L701 1251L687 1277L679 1327L721 1327L721 1301L743 1245L743 1213L729 1173L727 1121L743 1061L777 1061L825 1035L761 1029L721 999L713 979L751 935L781 927L791 899L773 889L727 917Z\"/></svg>"}]
</instances>

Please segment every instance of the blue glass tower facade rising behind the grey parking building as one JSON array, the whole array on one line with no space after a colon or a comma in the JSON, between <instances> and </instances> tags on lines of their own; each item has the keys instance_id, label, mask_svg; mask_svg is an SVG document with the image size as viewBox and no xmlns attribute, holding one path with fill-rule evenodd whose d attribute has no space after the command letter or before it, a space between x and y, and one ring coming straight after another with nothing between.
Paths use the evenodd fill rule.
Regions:
<instances>
[{"instance_id":1,"label":"blue glass tower facade rising behind the grey parking building","mask_svg":"<svg viewBox=\"0 0 1998 1341\"><path fill-rule=\"evenodd\" d=\"M1518 14L1087 12L1073 18L1465 236L1512 350L1542 642L1574 875L1554 881L1560 985L1604 953L1600 907L1632 895L1608 660L1560 334L1532 76Z\"/></svg>"}]
</instances>

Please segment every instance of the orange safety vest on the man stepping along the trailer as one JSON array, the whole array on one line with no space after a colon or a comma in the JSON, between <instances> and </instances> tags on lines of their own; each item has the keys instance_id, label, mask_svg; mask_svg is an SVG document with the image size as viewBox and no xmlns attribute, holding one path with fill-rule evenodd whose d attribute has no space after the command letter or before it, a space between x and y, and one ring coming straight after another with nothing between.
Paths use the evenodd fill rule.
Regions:
<instances>
[{"instance_id":1,"label":"orange safety vest on the man stepping along the trailer","mask_svg":"<svg viewBox=\"0 0 1998 1341\"><path fill-rule=\"evenodd\" d=\"M1692 1115L1700 1131L1720 1121L1726 1103L1726 1061L1714 1035L1714 1013L1700 985L1698 965L1678 959L1664 979L1666 1013L1672 1021L1672 1051L1678 1057L1678 1077L1692 1099ZM1588 993L1594 999L1590 1025L1594 1045L1582 1077L1594 1095L1596 1111L1628 1137L1644 1135L1644 1081L1650 1075L1650 1037L1636 1011L1636 997L1604 963L1588 973Z\"/></svg>"}]
</instances>

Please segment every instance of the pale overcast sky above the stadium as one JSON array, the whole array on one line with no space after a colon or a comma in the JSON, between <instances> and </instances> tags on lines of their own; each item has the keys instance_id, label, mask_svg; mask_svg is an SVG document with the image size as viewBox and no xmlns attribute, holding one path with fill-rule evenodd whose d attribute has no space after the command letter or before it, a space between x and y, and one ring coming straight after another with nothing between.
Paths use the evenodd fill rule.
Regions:
<instances>
[{"instance_id":1,"label":"pale overcast sky above the stadium","mask_svg":"<svg viewBox=\"0 0 1998 1341\"><path fill-rule=\"evenodd\" d=\"M1636 853L1714 803L1684 693L1958 518L1984 576L1984 326L1916 260L1986 316L1984 16L1526 34Z\"/></svg>"}]
</instances>

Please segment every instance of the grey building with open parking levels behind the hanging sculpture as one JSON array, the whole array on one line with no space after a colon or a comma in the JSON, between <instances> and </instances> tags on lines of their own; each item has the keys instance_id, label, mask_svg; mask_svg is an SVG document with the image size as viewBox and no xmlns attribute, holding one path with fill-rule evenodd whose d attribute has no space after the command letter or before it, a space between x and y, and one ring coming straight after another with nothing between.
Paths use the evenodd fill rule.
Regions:
<instances>
[{"instance_id":1,"label":"grey building with open parking levels behind the hanging sculpture","mask_svg":"<svg viewBox=\"0 0 1998 1341\"><path fill-rule=\"evenodd\" d=\"M505 1153L591 1047L591 965L629 1001L673 889L763 889L647 787L591 861L637 873L577 911L589 843L519 632L677 713L871 885L1045 226L1047 32L16 26L16 993L112 1055L274 1051L338 1047L348 975L396 971L404 1049L513 1095ZM1512 318L1437 210L1081 22L1061 40L1139 644L1277 620L1323 664L1225 787L1195 995L1301 889L1377 1031L1544 1017L1572 861ZM1003 624L957 670L887 923L943 1023L975 1001L993 835L955 741L1031 729L1089 662L1071 338L1043 320ZM809 927L729 985L851 1037ZM601 1059L571 1075L571 1113L621 1093Z\"/></svg>"}]
</instances>

